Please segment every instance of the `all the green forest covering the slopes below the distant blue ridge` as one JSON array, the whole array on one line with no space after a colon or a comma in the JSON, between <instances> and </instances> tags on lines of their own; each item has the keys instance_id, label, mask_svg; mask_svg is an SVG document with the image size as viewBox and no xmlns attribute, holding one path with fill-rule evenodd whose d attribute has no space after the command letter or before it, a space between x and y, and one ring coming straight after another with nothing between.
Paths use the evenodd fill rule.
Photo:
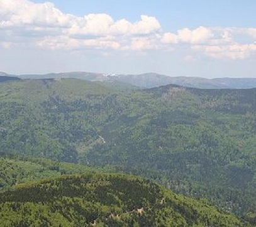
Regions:
<instances>
[{"instance_id":1,"label":"all the green forest covering the slopes below the distant blue ridge","mask_svg":"<svg viewBox=\"0 0 256 227\"><path fill-rule=\"evenodd\" d=\"M255 225L256 89L118 85L0 83L1 223Z\"/></svg>"}]
</instances>

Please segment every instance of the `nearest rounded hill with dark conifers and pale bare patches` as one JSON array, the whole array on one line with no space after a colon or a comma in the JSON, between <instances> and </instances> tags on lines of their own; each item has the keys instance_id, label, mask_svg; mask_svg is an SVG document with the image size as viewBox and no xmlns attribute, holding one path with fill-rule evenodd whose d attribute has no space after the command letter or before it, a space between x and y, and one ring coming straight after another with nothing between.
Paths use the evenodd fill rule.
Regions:
<instances>
[{"instance_id":1,"label":"nearest rounded hill with dark conifers and pale bare patches","mask_svg":"<svg viewBox=\"0 0 256 227\"><path fill-rule=\"evenodd\" d=\"M1 193L1 226L248 226L204 199L120 174L84 174Z\"/></svg>"}]
</instances>

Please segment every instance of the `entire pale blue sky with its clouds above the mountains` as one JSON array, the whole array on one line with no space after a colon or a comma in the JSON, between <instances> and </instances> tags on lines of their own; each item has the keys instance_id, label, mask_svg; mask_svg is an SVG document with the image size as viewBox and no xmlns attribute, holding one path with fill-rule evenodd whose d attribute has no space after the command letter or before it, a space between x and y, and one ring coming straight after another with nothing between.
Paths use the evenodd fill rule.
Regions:
<instances>
[{"instance_id":1,"label":"entire pale blue sky with its clouds above the mountains","mask_svg":"<svg viewBox=\"0 0 256 227\"><path fill-rule=\"evenodd\" d=\"M255 0L0 0L0 71L255 77Z\"/></svg>"}]
</instances>

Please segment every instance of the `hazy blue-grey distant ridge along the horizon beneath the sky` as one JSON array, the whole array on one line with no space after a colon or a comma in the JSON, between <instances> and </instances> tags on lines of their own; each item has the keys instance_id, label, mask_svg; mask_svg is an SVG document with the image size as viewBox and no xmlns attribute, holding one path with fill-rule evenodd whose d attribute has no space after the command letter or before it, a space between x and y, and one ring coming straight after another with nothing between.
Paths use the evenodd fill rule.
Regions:
<instances>
[{"instance_id":1,"label":"hazy blue-grey distant ridge along the horizon beneath the sky","mask_svg":"<svg viewBox=\"0 0 256 227\"><path fill-rule=\"evenodd\" d=\"M169 77L157 73L144 73L140 75L104 75L101 73L69 72L50 73L45 75L20 75L20 78L79 78L89 81L118 81L129 83L140 88L153 88L162 85L181 85L184 87L221 89L221 88L254 88L256 78L214 78L201 77Z\"/></svg>"}]
</instances>

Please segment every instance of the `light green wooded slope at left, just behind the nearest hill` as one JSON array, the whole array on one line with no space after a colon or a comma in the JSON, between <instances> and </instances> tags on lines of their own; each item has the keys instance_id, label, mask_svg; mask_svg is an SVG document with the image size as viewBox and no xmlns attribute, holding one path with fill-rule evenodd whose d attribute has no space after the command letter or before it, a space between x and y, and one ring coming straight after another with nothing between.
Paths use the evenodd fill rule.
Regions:
<instances>
[{"instance_id":1,"label":"light green wooded slope at left, just behind the nearest hill","mask_svg":"<svg viewBox=\"0 0 256 227\"><path fill-rule=\"evenodd\" d=\"M38 179L60 177L65 174L84 174L89 172L113 172L107 168L89 167L83 164L57 162L43 157L0 157L0 192L7 191L17 184Z\"/></svg>"}]
</instances>

